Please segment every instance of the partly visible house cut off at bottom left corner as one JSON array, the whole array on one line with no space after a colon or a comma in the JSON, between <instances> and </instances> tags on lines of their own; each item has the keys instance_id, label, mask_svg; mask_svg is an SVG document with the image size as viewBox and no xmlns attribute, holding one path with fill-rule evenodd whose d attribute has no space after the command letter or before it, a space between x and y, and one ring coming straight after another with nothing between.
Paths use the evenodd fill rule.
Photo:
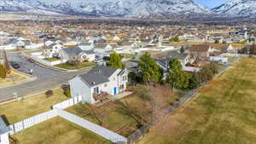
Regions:
<instances>
[{"instance_id":1,"label":"partly visible house cut off at bottom left corner","mask_svg":"<svg viewBox=\"0 0 256 144\"><path fill-rule=\"evenodd\" d=\"M0 117L0 144L9 144L9 128Z\"/></svg>"}]
</instances>

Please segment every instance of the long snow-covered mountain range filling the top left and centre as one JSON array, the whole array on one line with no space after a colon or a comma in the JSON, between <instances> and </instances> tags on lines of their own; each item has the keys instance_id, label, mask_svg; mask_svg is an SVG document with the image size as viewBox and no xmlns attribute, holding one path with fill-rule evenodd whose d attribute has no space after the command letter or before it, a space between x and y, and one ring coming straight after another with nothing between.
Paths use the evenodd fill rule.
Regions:
<instances>
[{"instance_id":1,"label":"long snow-covered mountain range filling the top left and centre","mask_svg":"<svg viewBox=\"0 0 256 144\"><path fill-rule=\"evenodd\" d=\"M0 11L137 18L212 14L193 0L1 0Z\"/></svg>"}]
</instances>

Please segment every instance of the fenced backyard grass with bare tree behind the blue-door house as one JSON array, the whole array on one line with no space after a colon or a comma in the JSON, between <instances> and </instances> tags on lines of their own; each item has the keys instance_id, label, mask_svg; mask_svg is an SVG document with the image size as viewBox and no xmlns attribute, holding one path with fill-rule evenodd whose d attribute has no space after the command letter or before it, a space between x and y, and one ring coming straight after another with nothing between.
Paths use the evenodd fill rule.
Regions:
<instances>
[{"instance_id":1,"label":"fenced backyard grass with bare tree behind the blue-door house","mask_svg":"<svg viewBox=\"0 0 256 144\"><path fill-rule=\"evenodd\" d=\"M128 136L141 126L141 123L149 122L150 119L150 105L144 101L140 93L140 89L146 86L139 85L134 90L134 94L128 95L119 101L111 101L99 107L79 104L67 108L67 112L87 119L93 123L100 124L108 130L117 132L119 135ZM160 109L169 107L180 95L173 94L172 89L166 87L151 87L154 94L160 98ZM137 116L143 117L143 122Z\"/></svg>"}]
</instances>

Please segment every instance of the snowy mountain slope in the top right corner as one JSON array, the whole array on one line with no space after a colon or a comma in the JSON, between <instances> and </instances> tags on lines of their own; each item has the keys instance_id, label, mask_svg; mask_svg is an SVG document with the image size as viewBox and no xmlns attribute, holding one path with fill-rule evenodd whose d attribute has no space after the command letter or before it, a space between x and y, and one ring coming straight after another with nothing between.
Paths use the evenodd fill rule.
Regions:
<instances>
[{"instance_id":1,"label":"snowy mountain slope in the top right corner","mask_svg":"<svg viewBox=\"0 0 256 144\"><path fill-rule=\"evenodd\" d=\"M212 11L216 14L234 16L256 15L256 0L230 0Z\"/></svg>"}]
</instances>

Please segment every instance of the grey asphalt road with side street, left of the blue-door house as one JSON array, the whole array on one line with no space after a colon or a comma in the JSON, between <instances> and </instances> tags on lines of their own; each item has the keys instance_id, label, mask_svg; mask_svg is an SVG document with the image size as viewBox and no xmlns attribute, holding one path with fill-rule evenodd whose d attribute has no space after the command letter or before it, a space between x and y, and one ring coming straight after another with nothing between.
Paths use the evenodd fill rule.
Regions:
<instances>
[{"instance_id":1,"label":"grey asphalt road with side street, left of the blue-door house","mask_svg":"<svg viewBox=\"0 0 256 144\"><path fill-rule=\"evenodd\" d=\"M35 81L26 84L19 84L8 88L0 89L0 101L14 97L14 93L19 96L25 96L35 93L41 89L52 89L58 84L66 84L69 79L81 73L88 72L83 70L79 72L62 72L55 69L50 69L44 66L38 66L26 60L25 57L20 56L18 53L9 53L9 61L15 61L20 64L19 71L29 72L33 69L33 75L38 78Z\"/></svg>"}]
</instances>

